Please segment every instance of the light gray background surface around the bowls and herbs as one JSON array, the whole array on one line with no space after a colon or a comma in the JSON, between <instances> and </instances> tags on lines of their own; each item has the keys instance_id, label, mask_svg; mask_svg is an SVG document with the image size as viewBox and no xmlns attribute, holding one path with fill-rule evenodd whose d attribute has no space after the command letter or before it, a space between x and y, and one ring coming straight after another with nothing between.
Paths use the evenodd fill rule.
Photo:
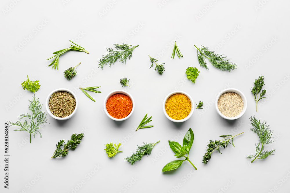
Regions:
<instances>
[{"instance_id":1,"label":"light gray background surface around the bowls and herbs","mask_svg":"<svg viewBox=\"0 0 290 193\"><path fill-rule=\"evenodd\" d=\"M42 104L57 88L76 92L79 100L75 117L65 122L48 117L50 124L40 129L42 138L32 138L31 144L28 133L10 127L10 189L3 188L4 162L0 161L1 192L288 192L289 5L285 0L1 1L0 155L4 154L4 123L16 122L18 115L29 112L28 100L33 93L20 85L26 75L40 81L35 94ZM105 14L100 15L102 12ZM75 40L90 54L68 52L60 57L59 71L47 67L52 60L46 58L68 47L69 40ZM174 40L184 55L181 59L170 58L170 42ZM106 48L122 42L139 45L131 60L126 65L117 62L111 68L98 69ZM16 47L21 43L26 45L19 50ZM238 69L223 73L208 64L206 71L197 62L194 44L228 56ZM165 63L162 76L149 69L148 54ZM79 62L77 76L66 80L64 70ZM186 81L189 66L200 70L195 84ZM265 76L267 98L259 102L256 113L250 89L260 75ZM114 122L104 114L103 103L110 91L122 88L119 80L123 77L130 79L131 88L123 89L131 93L136 106L128 120ZM102 86L102 93L92 93L96 102L78 89L79 84ZM246 113L236 121L222 119L212 104L217 93L227 87L240 89L248 100ZM162 101L174 90L189 93L195 102L204 101L204 109L195 109L182 124L169 121ZM154 127L135 132L146 113L153 116ZM250 164L245 156L255 153L258 142L258 136L249 130L249 117L254 115L267 121L274 131L276 142L267 149L276 151ZM189 128L195 135L189 157L197 171L184 162L177 170L162 174L162 167L176 159L168 148L168 139L182 143ZM75 151L50 159L60 139L81 132L84 138ZM222 154L214 152L207 165L202 163L209 139L241 132L244 134L236 137L235 148L230 145ZM158 140L151 156L143 157L135 166L124 161L137 144ZM124 152L109 159L104 144L121 141L119 149Z\"/></svg>"}]
</instances>

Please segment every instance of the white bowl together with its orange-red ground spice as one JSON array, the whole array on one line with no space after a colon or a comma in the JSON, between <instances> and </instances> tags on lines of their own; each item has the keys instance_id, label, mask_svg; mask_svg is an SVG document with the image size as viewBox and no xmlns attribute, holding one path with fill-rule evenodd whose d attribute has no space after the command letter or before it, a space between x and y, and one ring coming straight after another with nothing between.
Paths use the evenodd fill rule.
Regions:
<instances>
[{"instance_id":1,"label":"white bowl together with its orange-red ground spice","mask_svg":"<svg viewBox=\"0 0 290 193\"><path fill-rule=\"evenodd\" d=\"M135 103L131 94L124 90L110 92L104 101L106 115L115 121L128 119L135 108Z\"/></svg>"}]
</instances>

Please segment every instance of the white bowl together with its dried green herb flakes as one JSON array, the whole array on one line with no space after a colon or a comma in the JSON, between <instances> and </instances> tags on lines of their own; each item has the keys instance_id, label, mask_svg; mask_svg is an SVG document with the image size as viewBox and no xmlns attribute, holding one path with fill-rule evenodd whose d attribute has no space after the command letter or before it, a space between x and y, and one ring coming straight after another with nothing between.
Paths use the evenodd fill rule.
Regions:
<instances>
[{"instance_id":1,"label":"white bowl together with its dried green herb flakes","mask_svg":"<svg viewBox=\"0 0 290 193\"><path fill-rule=\"evenodd\" d=\"M47 113L57 120L67 120L77 111L77 97L69 89L56 89L46 98Z\"/></svg>"}]
</instances>

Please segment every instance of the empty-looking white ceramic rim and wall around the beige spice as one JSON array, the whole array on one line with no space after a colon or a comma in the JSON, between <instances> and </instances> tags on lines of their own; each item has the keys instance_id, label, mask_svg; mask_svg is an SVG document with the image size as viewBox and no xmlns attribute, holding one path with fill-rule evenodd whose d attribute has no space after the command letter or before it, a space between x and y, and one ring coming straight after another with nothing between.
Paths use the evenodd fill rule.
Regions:
<instances>
[{"instance_id":1,"label":"empty-looking white ceramic rim and wall around the beige spice","mask_svg":"<svg viewBox=\"0 0 290 193\"><path fill-rule=\"evenodd\" d=\"M243 100L243 103L244 103L244 108L243 108L242 112L241 112L240 114L238 114L237 116L235 116L235 117L227 117L227 116L223 115L223 114L220 112L220 110L218 109L218 99L220 98L220 96L221 96L222 94L227 93L227 92L234 92L234 93L237 93L238 95L241 96L241 98L242 98L242 100ZM238 90L238 89L234 89L234 88L228 88L228 89L224 89L224 90L222 90L222 91L218 94L218 96L217 96L217 98L216 98L216 101L215 101L215 109L217 110L218 114L219 114L222 118L224 118L224 119L228 119L228 120L235 120L235 119L240 118L242 115L244 115L244 113L245 113L246 110L247 110L247 105L248 105L248 104L247 104L247 99L246 99L246 96L244 95L244 93L242 93L240 90Z\"/></svg>"}]
</instances>

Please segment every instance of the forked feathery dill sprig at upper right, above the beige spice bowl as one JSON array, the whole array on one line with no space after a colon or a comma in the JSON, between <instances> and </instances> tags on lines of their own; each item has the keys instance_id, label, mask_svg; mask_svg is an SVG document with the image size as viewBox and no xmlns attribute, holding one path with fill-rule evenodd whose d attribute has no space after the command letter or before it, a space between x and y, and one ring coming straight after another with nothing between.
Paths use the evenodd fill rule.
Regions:
<instances>
[{"instance_id":1,"label":"forked feathery dill sprig at upper right, above the beige spice bowl","mask_svg":"<svg viewBox=\"0 0 290 193\"><path fill-rule=\"evenodd\" d=\"M194 45L196 47L196 45ZM238 66L235 63L231 63L229 59L223 57L223 54L215 54L215 52L210 51L209 48L201 46L197 49L197 60L201 67L204 67L206 70L209 68L206 65L205 58L209 59L209 62L216 68L222 71L232 71ZM198 51L200 54L198 54Z\"/></svg>"}]
</instances>

